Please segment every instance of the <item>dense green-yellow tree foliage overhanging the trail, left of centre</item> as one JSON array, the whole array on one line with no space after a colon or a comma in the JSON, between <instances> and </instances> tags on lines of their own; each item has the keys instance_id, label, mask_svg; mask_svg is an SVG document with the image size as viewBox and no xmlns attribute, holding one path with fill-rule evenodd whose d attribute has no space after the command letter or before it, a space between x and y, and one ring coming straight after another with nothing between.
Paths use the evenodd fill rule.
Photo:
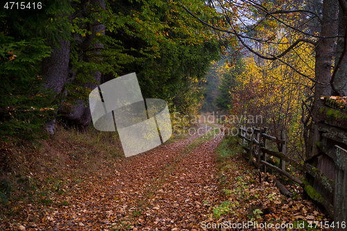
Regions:
<instances>
[{"instance_id":1,"label":"dense green-yellow tree foliage overhanging the trail, left of centre","mask_svg":"<svg viewBox=\"0 0 347 231\"><path fill-rule=\"evenodd\" d=\"M211 11L203 2L191 6ZM135 71L143 96L166 100L172 113L196 114L205 72L210 61L219 57L216 36L187 15L180 3L115 1L110 8L118 12L113 17L119 24L117 31L106 35L119 41L123 53L133 58L121 66L121 73Z\"/></svg>"}]
</instances>

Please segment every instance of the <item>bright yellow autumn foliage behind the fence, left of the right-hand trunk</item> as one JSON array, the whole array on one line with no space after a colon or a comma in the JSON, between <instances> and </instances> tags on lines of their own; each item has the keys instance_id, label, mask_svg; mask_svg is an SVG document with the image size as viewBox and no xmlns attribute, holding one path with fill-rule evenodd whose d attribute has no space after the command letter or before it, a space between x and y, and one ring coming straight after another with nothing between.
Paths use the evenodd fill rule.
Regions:
<instances>
[{"instance_id":1,"label":"bright yellow autumn foliage behind the fence, left of the right-hand trunk","mask_svg":"<svg viewBox=\"0 0 347 231\"><path fill-rule=\"evenodd\" d=\"M296 37L291 37L296 40ZM287 49L289 41L282 38L280 45L264 44L259 49L262 53L282 53ZM289 146L301 142L300 131L301 105L307 96L313 94L314 78L314 47L300 44L287 53L281 60L262 60L255 55L244 58L244 73L238 77L238 96L233 97L239 104L238 114L262 115L262 125L273 126L273 119L278 124L278 131L285 130ZM305 76L303 76L305 75ZM309 77L309 78L307 78Z\"/></svg>"}]
</instances>

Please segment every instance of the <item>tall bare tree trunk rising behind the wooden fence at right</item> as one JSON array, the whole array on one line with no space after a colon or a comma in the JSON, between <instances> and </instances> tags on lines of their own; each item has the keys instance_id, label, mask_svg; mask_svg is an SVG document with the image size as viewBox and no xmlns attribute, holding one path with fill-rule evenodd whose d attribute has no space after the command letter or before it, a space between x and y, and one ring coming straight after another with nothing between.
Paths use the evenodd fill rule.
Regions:
<instances>
[{"instance_id":1,"label":"tall bare tree trunk rising behind the wooden fence at right","mask_svg":"<svg viewBox=\"0 0 347 231\"><path fill-rule=\"evenodd\" d=\"M317 144L321 142L321 132L319 132L319 123L321 118L318 117L319 109L323 107L321 101L321 96L330 96L332 88L330 86L330 80L332 78L332 60L335 58L336 53L336 41L334 38L338 31L338 14L339 14L339 3L337 0L323 0L323 17L321 25L321 37L319 38L316 46L316 63L315 63L315 89L314 89L314 103L312 106L312 123L310 124L309 139L306 146L306 159L309 160L307 164L309 166L317 165L317 158L310 158L319 155L319 148ZM332 38L326 38L332 37ZM322 166L321 164L319 166ZM318 168L319 168L318 166ZM334 168L334 166L330 166ZM321 169L318 169L320 171ZM317 182L321 182L322 178L320 176L315 176L314 174L307 173L305 180L309 182L310 185L306 185L307 189L310 187L317 190ZM305 187L305 192L308 196L310 191ZM331 185L330 185L331 189ZM320 192L320 191L319 191ZM331 190L330 192L331 193ZM324 205L330 216L332 216L332 205L326 200L317 200L319 203Z\"/></svg>"}]
</instances>

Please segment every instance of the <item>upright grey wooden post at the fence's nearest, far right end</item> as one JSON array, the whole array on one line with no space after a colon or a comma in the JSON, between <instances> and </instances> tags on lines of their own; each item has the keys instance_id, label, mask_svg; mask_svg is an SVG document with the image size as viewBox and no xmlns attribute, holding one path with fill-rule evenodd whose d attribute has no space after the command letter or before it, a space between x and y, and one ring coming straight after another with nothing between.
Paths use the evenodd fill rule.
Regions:
<instances>
[{"instance_id":1,"label":"upright grey wooden post at the fence's nearest, far right end","mask_svg":"<svg viewBox=\"0 0 347 231\"><path fill-rule=\"evenodd\" d=\"M346 230L347 221L347 151L335 145L335 194L334 194L334 230ZM344 228L342 228L344 223ZM337 227L339 224L339 227Z\"/></svg>"}]
</instances>

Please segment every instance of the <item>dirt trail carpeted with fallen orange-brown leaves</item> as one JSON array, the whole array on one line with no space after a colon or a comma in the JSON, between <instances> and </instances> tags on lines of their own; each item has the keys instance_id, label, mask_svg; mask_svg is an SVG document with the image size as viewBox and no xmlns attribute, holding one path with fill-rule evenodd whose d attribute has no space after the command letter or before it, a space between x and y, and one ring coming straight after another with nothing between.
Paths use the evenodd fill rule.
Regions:
<instances>
[{"instance_id":1,"label":"dirt trail carpeted with fallen orange-brown leaves","mask_svg":"<svg viewBox=\"0 0 347 231\"><path fill-rule=\"evenodd\" d=\"M201 230L219 197L214 151L222 135L187 150L197 137L122 159L113 178L80 184L73 197L60 198L70 204L47 214L42 225L45 230Z\"/></svg>"}]
</instances>

